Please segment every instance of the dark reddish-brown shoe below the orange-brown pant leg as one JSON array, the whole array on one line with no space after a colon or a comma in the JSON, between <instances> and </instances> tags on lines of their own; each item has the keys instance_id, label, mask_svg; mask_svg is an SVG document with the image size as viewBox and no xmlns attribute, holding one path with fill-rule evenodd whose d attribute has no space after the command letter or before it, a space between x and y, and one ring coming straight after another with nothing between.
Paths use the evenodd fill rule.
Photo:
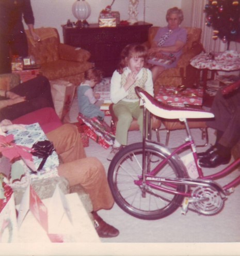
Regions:
<instances>
[{"instance_id":1,"label":"dark reddish-brown shoe below the orange-brown pant leg","mask_svg":"<svg viewBox=\"0 0 240 256\"><path fill-rule=\"evenodd\" d=\"M119 235L119 230L107 224L97 213L92 213L94 226L100 237L115 237Z\"/></svg>"}]
</instances>

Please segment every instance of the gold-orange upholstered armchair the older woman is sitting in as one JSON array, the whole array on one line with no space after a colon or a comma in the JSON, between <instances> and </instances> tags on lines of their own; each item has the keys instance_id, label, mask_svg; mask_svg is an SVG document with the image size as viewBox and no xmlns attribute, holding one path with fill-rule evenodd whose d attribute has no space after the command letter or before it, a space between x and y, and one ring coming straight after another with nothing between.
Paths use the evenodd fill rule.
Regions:
<instances>
[{"instance_id":1,"label":"gold-orange upholstered armchair the older woman is sitting in","mask_svg":"<svg viewBox=\"0 0 240 256\"><path fill-rule=\"evenodd\" d=\"M159 27L153 26L149 28L147 47L150 47ZM193 71L190 67L190 60L194 56L200 54L203 51L201 39L201 28L185 27L187 29L187 43L183 48L183 54L178 61L178 65L175 68L165 70L158 76L154 83L154 92L157 91L159 86L179 86L179 85L191 85L189 74ZM189 74L188 74L189 73ZM192 79L192 80L193 80Z\"/></svg>"}]
</instances>

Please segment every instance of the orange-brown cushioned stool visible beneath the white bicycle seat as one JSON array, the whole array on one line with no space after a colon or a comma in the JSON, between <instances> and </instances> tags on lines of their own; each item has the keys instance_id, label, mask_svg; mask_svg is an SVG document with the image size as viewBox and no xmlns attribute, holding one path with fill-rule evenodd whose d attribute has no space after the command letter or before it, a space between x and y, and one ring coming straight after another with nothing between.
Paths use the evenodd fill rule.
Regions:
<instances>
[{"instance_id":1,"label":"orange-brown cushioned stool visible beneath the white bicycle seat","mask_svg":"<svg viewBox=\"0 0 240 256\"><path fill-rule=\"evenodd\" d=\"M182 130L185 129L185 125L183 122L180 121L173 121L173 120L166 120L162 119L162 122L167 130L167 136L166 136L166 142L165 145L168 146L169 137L170 137L170 131L174 130ZM204 145L196 145L196 147L205 147L209 143L209 135L207 133L207 126L205 121L195 121L195 120L189 120L188 121L189 128L199 128L202 132L202 139L205 138L205 144ZM164 129L161 129L164 130Z\"/></svg>"}]
</instances>

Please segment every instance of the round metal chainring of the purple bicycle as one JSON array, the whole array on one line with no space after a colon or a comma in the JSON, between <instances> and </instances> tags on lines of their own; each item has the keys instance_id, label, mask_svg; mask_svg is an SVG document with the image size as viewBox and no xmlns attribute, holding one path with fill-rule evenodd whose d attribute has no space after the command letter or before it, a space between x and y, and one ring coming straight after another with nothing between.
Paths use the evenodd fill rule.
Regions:
<instances>
[{"instance_id":1,"label":"round metal chainring of the purple bicycle","mask_svg":"<svg viewBox=\"0 0 240 256\"><path fill-rule=\"evenodd\" d=\"M195 210L203 215L215 215L224 206L224 201L213 187L196 187L193 190L192 197Z\"/></svg>"}]
</instances>

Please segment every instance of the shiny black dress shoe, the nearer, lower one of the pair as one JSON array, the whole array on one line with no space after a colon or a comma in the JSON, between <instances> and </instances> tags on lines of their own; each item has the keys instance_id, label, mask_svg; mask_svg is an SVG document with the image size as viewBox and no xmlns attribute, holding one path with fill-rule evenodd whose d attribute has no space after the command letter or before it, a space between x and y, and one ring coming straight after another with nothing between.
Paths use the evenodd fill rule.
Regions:
<instances>
[{"instance_id":1,"label":"shiny black dress shoe, the nearer, lower one of the pair","mask_svg":"<svg viewBox=\"0 0 240 256\"><path fill-rule=\"evenodd\" d=\"M230 162L231 155L222 157L218 151L212 152L209 156L199 159L199 165L206 168L215 168L219 165L226 165Z\"/></svg>"}]
</instances>

